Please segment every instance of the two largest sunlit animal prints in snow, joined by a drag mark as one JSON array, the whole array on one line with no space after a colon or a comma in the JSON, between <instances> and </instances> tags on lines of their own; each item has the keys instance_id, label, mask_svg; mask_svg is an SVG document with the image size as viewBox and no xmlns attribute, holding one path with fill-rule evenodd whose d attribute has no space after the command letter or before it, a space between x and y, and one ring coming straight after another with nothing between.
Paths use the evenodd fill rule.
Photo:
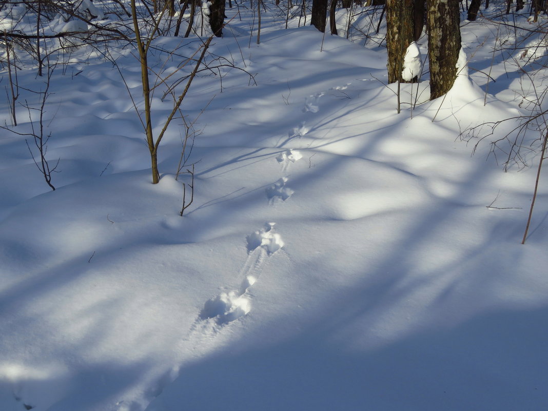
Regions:
<instances>
[{"instance_id":1,"label":"two largest sunlit animal prints in snow, joined by a drag mark","mask_svg":"<svg viewBox=\"0 0 548 411\"><path fill-rule=\"evenodd\" d=\"M273 232L274 225L273 222L267 222L264 228L247 236L249 255L242 267L241 273L244 278L240 287L238 290L222 292L207 300L200 311L200 319L214 319L221 325L243 317L251 310L251 303L246 293L259 278L267 256L283 247L281 236Z\"/></svg>"}]
</instances>

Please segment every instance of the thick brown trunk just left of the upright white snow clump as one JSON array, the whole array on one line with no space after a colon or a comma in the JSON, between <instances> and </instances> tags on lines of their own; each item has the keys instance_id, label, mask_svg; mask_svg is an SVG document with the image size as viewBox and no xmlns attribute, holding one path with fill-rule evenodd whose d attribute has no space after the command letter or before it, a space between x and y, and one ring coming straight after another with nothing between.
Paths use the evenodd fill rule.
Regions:
<instances>
[{"instance_id":1,"label":"thick brown trunk just left of the upright white snow clump","mask_svg":"<svg viewBox=\"0 0 548 411\"><path fill-rule=\"evenodd\" d=\"M386 48L388 49L388 82L403 83L403 57L413 42L413 0L386 0Z\"/></svg>"}]
</instances>

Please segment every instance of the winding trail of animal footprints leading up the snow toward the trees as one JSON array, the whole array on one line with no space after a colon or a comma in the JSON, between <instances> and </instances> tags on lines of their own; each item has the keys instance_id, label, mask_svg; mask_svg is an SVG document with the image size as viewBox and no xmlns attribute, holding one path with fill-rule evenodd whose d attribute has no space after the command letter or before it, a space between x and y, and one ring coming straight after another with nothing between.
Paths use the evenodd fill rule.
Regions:
<instances>
[{"instance_id":1,"label":"winding trail of animal footprints leading up the snow toward the trees","mask_svg":"<svg viewBox=\"0 0 548 411\"><path fill-rule=\"evenodd\" d=\"M348 85L334 87L332 90L344 90ZM318 101L325 94L318 93L307 98L302 111L305 113L317 113L319 111ZM290 138L302 137L309 131L309 127L303 121L288 134ZM299 151L289 149L281 152L276 157L276 161L282 165L282 173L287 174L290 165L301 158L302 155ZM284 175L266 188L266 197L269 199L269 202L273 202L276 199L286 201L293 195L294 190L287 186L287 182L288 177ZM222 325L245 316L251 310L251 302L248 295L249 289L259 279L266 259L270 258L272 254L275 254L284 245L282 237L275 232L275 224L274 222L267 222L262 229L247 236L248 256L240 271L243 279L239 288L229 292L221 292L214 298L207 300L199 313L199 321L213 320L216 324Z\"/></svg>"}]
</instances>

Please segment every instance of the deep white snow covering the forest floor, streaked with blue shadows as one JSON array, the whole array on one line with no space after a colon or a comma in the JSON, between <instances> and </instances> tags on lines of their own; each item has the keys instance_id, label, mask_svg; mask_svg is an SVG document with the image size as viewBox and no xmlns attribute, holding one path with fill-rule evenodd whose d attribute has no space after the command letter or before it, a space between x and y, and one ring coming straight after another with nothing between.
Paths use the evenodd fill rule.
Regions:
<instances>
[{"instance_id":1,"label":"deep white snow covering the forest floor, streaked with blue shadows","mask_svg":"<svg viewBox=\"0 0 548 411\"><path fill-rule=\"evenodd\" d=\"M142 104L130 50L120 72L86 48L53 72L55 191L25 136L0 130L0 409L545 410L545 173L521 244L539 151L504 173L489 142L516 123L473 156L489 130L466 133L534 111L517 66L539 68L545 49L463 21L469 76L434 101L426 74L402 84L398 114L365 13L351 42L297 27L298 14L286 30L271 5L258 45L246 4L227 8L233 35L210 51L247 73L202 72L182 105L198 117L184 216L184 128L175 120L162 141L152 185L120 75ZM155 44L196 50L185 42ZM425 37L418 48L424 60ZM151 64L164 63L154 52ZM45 87L35 68L18 76ZM12 127L7 100L2 124L29 132L21 106ZM155 132L170 104L158 94Z\"/></svg>"}]
</instances>

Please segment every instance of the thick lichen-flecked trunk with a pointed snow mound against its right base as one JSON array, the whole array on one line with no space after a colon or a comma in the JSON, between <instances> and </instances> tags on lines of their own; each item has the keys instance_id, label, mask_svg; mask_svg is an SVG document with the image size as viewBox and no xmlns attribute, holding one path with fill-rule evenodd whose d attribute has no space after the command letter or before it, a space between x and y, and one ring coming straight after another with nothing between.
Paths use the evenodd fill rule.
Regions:
<instances>
[{"instance_id":1,"label":"thick lichen-flecked trunk with a pointed snow mound against its right base","mask_svg":"<svg viewBox=\"0 0 548 411\"><path fill-rule=\"evenodd\" d=\"M446 94L456 78L461 47L460 10L458 0L427 0L426 6L430 99L433 100Z\"/></svg>"}]
</instances>

